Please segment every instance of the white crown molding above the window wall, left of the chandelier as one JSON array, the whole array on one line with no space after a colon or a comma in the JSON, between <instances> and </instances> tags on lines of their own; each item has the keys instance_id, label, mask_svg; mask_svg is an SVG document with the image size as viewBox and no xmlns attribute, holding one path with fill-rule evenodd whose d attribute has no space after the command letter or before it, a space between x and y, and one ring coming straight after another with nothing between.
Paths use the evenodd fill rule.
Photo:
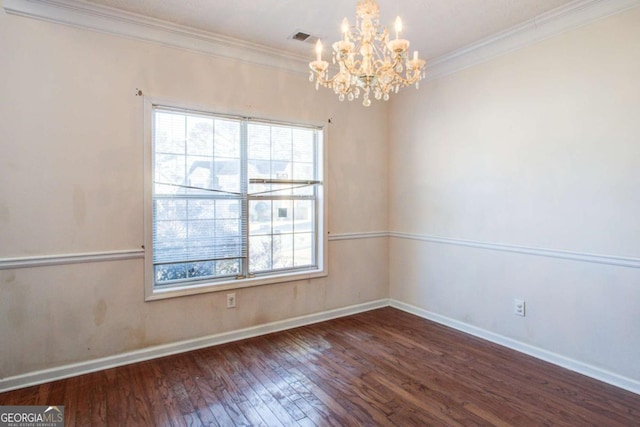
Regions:
<instances>
[{"instance_id":1,"label":"white crown molding above the window wall, left of the chandelier","mask_svg":"<svg viewBox=\"0 0 640 427\"><path fill-rule=\"evenodd\" d=\"M270 68L308 72L306 57L179 24L74 0L4 0L12 15L40 19L166 47L184 49Z\"/></svg>"}]
</instances>

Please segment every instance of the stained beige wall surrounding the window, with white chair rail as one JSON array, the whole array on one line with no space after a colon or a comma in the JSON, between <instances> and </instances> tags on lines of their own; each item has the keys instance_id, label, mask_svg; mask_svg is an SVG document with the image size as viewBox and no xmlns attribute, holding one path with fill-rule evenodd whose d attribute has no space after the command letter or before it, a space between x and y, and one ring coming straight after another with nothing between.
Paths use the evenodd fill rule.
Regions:
<instances>
[{"instance_id":1,"label":"stained beige wall surrounding the window, with white chair rail","mask_svg":"<svg viewBox=\"0 0 640 427\"><path fill-rule=\"evenodd\" d=\"M215 112L332 118L329 231L387 229L384 105L339 103L305 74L5 13L0 64L0 259L141 247L136 88ZM0 270L0 378L387 298L387 245L330 241L329 277L238 290L235 310L224 293L145 303L142 259Z\"/></svg>"}]
</instances>

